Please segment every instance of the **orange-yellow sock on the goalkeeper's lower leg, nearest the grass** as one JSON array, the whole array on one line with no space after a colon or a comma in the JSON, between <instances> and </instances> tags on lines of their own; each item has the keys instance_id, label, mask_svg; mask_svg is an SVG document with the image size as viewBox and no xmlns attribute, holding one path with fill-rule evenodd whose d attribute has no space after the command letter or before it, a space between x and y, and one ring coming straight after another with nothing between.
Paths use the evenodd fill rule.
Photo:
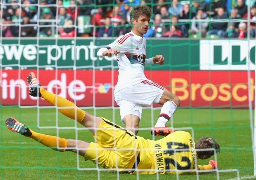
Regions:
<instances>
[{"instance_id":1,"label":"orange-yellow sock on the goalkeeper's lower leg, nearest the grass","mask_svg":"<svg viewBox=\"0 0 256 180\"><path fill-rule=\"evenodd\" d=\"M49 136L46 134L40 134L37 132L34 132L30 129L32 135L29 136L30 138L40 142L41 144L44 144L45 146L58 151L56 147L64 148L59 149L59 151L64 152L67 148L67 140L65 138L59 138L57 136ZM57 144L58 143L58 144Z\"/></svg>"}]
</instances>

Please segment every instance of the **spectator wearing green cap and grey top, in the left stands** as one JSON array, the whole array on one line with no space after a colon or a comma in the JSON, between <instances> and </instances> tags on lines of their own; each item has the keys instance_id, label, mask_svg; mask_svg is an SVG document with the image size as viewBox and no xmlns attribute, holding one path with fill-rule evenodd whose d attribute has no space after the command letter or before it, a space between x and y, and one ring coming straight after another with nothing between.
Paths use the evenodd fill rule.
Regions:
<instances>
[{"instance_id":1,"label":"spectator wearing green cap and grey top, in the left stands","mask_svg":"<svg viewBox=\"0 0 256 180\"><path fill-rule=\"evenodd\" d=\"M52 32L52 27L54 26L54 23L52 23L51 20L53 20L54 18L52 17L52 13L49 8L43 9L43 18L44 20L48 20L48 22L39 22L39 33L41 35L51 36L55 32Z\"/></svg>"}]
</instances>

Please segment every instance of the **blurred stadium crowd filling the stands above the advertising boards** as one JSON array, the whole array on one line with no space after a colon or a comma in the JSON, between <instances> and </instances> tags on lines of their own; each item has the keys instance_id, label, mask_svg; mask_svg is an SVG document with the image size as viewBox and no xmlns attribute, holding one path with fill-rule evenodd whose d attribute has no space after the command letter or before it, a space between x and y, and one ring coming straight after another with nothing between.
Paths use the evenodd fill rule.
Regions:
<instances>
[{"instance_id":1,"label":"blurred stadium crowd filling the stands above the advertising boards","mask_svg":"<svg viewBox=\"0 0 256 180\"><path fill-rule=\"evenodd\" d=\"M118 37L131 31L132 6L139 4L153 12L144 37L255 37L256 0L3 0L1 35Z\"/></svg>"}]
</instances>

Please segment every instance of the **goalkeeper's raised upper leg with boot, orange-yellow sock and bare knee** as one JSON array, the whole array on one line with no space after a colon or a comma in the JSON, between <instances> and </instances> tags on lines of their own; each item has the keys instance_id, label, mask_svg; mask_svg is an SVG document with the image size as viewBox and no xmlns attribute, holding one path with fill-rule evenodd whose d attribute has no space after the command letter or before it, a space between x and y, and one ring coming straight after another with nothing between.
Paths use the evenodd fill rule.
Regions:
<instances>
[{"instance_id":1,"label":"goalkeeper's raised upper leg with boot, orange-yellow sock and bare knee","mask_svg":"<svg viewBox=\"0 0 256 180\"><path fill-rule=\"evenodd\" d=\"M91 132L95 133L95 131L99 127L99 124L101 123L100 117L95 117L93 115L90 115L89 113L77 107L71 101L61 96L58 96L57 94L53 94L47 91L46 89L42 88L42 86L39 83L39 80L36 78L36 75L33 72L29 73L29 76L27 77L27 79L28 79L27 82L29 83L29 86L30 86L29 95L44 98L51 105L57 106L59 111L63 115L78 121L80 124L82 124L86 128L90 128Z\"/></svg>"}]
</instances>

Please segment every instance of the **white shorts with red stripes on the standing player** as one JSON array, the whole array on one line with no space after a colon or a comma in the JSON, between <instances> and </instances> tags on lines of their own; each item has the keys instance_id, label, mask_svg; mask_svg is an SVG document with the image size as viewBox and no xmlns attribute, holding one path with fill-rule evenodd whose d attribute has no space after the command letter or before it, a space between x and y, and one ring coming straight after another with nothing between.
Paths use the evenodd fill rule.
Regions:
<instances>
[{"instance_id":1,"label":"white shorts with red stripes on the standing player","mask_svg":"<svg viewBox=\"0 0 256 180\"><path fill-rule=\"evenodd\" d=\"M152 103L159 103L164 90L164 87L151 80L143 80L139 84L116 92L115 102L120 107L122 122L129 114L137 115L141 119L143 105L150 106Z\"/></svg>"}]
</instances>

